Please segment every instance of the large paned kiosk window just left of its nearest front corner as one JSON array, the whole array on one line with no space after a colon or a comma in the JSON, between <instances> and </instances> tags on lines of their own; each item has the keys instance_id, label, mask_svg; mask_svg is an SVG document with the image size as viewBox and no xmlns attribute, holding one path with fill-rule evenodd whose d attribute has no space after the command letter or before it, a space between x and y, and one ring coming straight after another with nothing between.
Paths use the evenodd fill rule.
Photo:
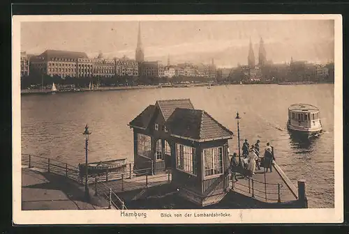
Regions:
<instances>
[{"instance_id":1,"label":"large paned kiosk window just left of its nearest front corner","mask_svg":"<svg viewBox=\"0 0 349 234\"><path fill-rule=\"evenodd\" d=\"M192 175L197 175L195 148L176 143L177 169Z\"/></svg>"}]
</instances>

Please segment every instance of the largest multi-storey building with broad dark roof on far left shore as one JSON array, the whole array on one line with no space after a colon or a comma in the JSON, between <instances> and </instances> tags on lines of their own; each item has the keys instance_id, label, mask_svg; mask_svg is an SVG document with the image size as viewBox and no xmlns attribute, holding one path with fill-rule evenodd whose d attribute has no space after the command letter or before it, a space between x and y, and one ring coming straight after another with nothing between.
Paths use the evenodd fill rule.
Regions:
<instances>
[{"instance_id":1,"label":"largest multi-storey building with broad dark roof on far left shore","mask_svg":"<svg viewBox=\"0 0 349 234\"><path fill-rule=\"evenodd\" d=\"M47 49L42 54L31 57L30 67L40 74L77 77L78 59L88 59L87 54Z\"/></svg>"}]
</instances>

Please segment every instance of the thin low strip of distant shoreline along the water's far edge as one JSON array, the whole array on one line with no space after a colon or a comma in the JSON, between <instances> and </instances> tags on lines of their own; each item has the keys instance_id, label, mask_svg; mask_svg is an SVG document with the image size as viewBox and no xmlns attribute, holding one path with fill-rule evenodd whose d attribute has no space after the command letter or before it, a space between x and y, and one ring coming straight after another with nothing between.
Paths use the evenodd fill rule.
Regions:
<instances>
[{"instance_id":1,"label":"thin low strip of distant shoreline along the water's far edge","mask_svg":"<svg viewBox=\"0 0 349 234\"><path fill-rule=\"evenodd\" d=\"M251 85L251 84L274 84L274 83L247 83L247 84L211 84L211 86L228 86L228 85ZM334 83L315 83L315 82L282 82L278 85L308 85L308 84L334 84ZM146 89L146 88L191 88L198 86L208 86L207 83L196 83L196 84L167 84L167 85L139 85L139 86L112 86L112 87L98 87L94 89L89 88L75 88L70 90L62 90L57 93L80 93L80 92L96 92L96 91L124 91L133 89ZM21 95L29 94L50 94L50 89L22 89Z\"/></svg>"}]
</instances>

